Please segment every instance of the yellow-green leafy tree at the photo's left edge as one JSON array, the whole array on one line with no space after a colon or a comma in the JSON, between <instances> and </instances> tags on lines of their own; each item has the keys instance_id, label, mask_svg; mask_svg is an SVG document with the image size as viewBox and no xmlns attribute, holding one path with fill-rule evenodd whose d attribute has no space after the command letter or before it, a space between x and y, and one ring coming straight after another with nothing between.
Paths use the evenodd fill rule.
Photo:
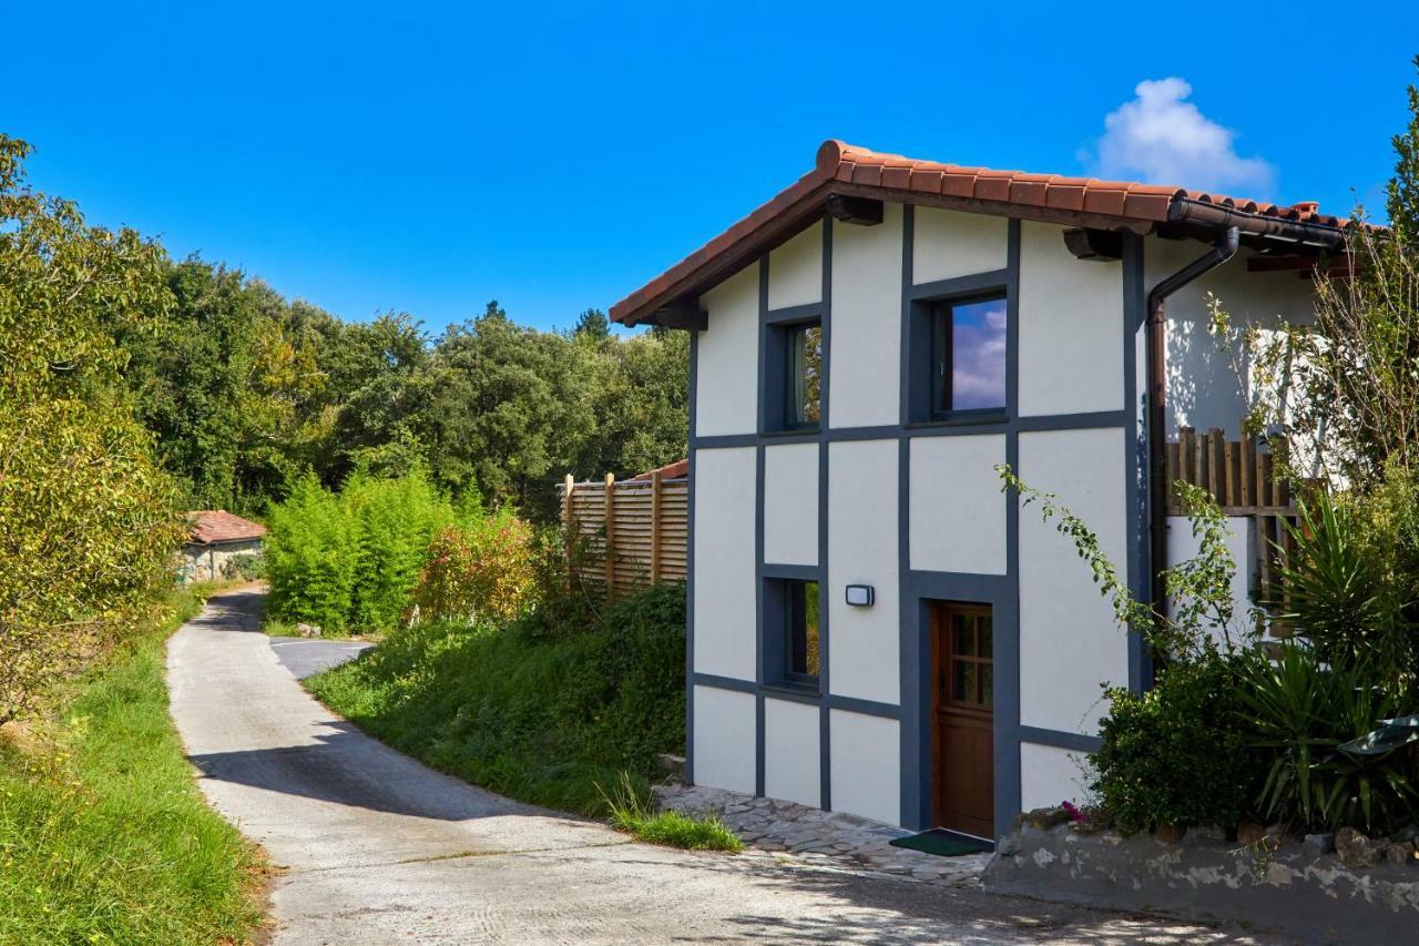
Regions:
<instances>
[{"instance_id":1,"label":"yellow-green leafy tree at the photo's left edge","mask_svg":"<svg viewBox=\"0 0 1419 946\"><path fill-rule=\"evenodd\" d=\"M183 535L114 341L159 331L163 251L33 190L28 153L0 135L0 723L172 581Z\"/></svg>"}]
</instances>

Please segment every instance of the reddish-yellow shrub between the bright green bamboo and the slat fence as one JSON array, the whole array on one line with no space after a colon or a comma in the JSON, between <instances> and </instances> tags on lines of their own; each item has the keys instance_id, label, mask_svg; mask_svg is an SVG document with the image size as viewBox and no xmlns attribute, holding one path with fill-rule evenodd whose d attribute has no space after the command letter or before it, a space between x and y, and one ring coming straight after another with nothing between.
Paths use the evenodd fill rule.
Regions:
<instances>
[{"instance_id":1,"label":"reddish-yellow shrub between the bright green bamboo and the slat fence","mask_svg":"<svg viewBox=\"0 0 1419 946\"><path fill-rule=\"evenodd\" d=\"M427 550L414 588L430 619L507 621L528 607L535 589L532 527L509 513L465 517L446 526Z\"/></svg>"}]
</instances>

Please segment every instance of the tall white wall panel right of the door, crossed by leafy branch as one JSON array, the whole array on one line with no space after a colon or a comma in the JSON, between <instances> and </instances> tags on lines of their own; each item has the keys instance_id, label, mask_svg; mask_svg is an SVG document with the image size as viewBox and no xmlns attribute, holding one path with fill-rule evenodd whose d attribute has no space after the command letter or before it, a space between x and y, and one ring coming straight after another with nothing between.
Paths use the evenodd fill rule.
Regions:
<instances>
[{"instance_id":1,"label":"tall white wall panel right of the door, crossed by leafy branch","mask_svg":"<svg viewBox=\"0 0 1419 946\"><path fill-rule=\"evenodd\" d=\"M1051 430L1020 435L1020 477L1059 501L1098 535L1125 577L1124 432ZM1128 639L1098 594L1088 565L1039 504L1020 510L1020 722L1094 733L1105 706L1103 682L1128 682Z\"/></svg>"}]
</instances>

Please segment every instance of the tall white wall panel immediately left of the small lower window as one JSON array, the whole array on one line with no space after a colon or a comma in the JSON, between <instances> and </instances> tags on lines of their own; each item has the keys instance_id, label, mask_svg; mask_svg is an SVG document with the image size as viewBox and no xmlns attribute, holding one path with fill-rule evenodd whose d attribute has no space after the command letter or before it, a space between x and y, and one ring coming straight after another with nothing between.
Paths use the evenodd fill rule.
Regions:
<instances>
[{"instance_id":1,"label":"tall white wall panel immediately left of the small lower window","mask_svg":"<svg viewBox=\"0 0 1419 946\"><path fill-rule=\"evenodd\" d=\"M755 678L753 447L695 450L695 632L700 673Z\"/></svg>"}]
</instances>

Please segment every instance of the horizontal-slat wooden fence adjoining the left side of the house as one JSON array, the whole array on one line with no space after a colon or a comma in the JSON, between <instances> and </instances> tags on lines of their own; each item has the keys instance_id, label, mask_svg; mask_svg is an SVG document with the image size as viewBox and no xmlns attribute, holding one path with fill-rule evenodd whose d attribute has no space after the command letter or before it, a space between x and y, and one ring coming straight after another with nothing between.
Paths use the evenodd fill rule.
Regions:
<instances>
[{"instance_id":1,"label":"horizontal-slat wooden fence adjoining the left side of the house","mask_svg":"<svg viewBox=\"0 0 1419 946\"><path fill-rule=\"evenodd\" d=\"M568 548L579 545L573 567L585 581L613 594L663 581L685 580L690 482L653 473L644 480L578 483L559 487Z\"/></svg>"}]
</instances>

